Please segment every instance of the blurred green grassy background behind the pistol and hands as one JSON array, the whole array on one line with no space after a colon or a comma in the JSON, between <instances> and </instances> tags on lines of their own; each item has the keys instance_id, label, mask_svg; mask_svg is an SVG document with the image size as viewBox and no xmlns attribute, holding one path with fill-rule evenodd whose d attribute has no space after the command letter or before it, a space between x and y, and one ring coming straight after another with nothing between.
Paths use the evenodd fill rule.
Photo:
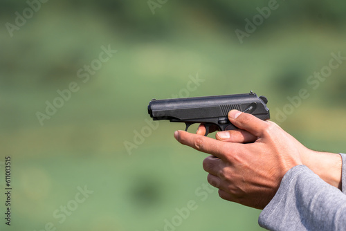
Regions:
<instances>
[{"instance_id":1,"label":"blurred green grassy background behind the pistol and hands","mask_svg":"<svg viewBox=\"0 0 346 231\"><path fill-rule=\"evenodd\" d=\"M307 147L345 151L346 64L316 89L307 80L331 53L346 56L346 4L277 1L241 43L235 30L245 31L246 19L270 2L29 0L36 3L30 11L24 0L1 0L1 230L262 230L260 210L201 188L207 155L174 140L184 124L149 129L147 104L252 90ZM100 64L102 47L117 52L89 79L78 75ZM37 112L46 113L46 102L71 82L78 91L42 126ZM288 98L300 89L309 98L292 106ZM10 227L5 156L12 158ZM82 203L78 187L93 191Z\"/></svg>"}]
</instances>

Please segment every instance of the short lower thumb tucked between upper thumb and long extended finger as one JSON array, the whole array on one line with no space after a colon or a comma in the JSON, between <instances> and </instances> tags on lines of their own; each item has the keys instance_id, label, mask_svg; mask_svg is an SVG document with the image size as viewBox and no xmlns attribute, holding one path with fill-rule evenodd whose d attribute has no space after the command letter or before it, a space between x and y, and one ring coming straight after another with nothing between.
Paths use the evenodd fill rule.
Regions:
<instances>
[{"instance_id":1,"label":"short lower thumb tucked between upper thumb and long extended finger","mask_svg":"<svg viewBox=\"0 0 346 231\"><path fill-rule=\"evenodd\" d=\"M215 138L217 140L226 141L226 142L242 142L242 143L255 142L255 140L257 140L257 136L242 129L235 129L230 131L219 131L216 133Z\"/></svg>"}]
</instances>

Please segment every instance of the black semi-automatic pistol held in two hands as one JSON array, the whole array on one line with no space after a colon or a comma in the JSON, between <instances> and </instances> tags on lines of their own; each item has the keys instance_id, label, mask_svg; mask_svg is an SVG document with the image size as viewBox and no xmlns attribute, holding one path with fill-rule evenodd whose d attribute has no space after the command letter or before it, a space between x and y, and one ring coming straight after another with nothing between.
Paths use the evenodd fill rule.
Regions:
<instances>
[{"instance_id":1,"label":"black semi-automatic pistol held in two hands","mask_svg":"<svg viewBox=\"0 0 346 231\"><path fill-rule=\"evenodd\" d=\"M148 113L153 120L185 122L185 131L188 131L188 128L194 123L202 123L206 126L204 136L208 136L212 125L216 125L219 131L237 128L228 120L228 112L233 109L251 113L261 120L269 119L267 102L266 97L257 97L253 91L248 94L237 95L215 95L170 100L153 99L149 102Z\"/></svg>"}]
</instances>

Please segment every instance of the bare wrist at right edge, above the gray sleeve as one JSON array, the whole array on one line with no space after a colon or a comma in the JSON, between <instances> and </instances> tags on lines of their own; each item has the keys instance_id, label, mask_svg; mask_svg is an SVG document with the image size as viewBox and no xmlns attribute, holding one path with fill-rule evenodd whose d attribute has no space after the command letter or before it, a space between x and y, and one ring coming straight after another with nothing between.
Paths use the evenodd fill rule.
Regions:
<instances>
[{"instance_id":1,"label":"bare wrist at right edge, above the gray sleeve","mask_svg":"<svg viewBox=\"0 0 346 231\"><path fill-rule=\"evenodd\" d=\"M302 156L302 163L323 181L341 190L343 160L340 154L310 150Z\"/></svg>"}]
</instances>

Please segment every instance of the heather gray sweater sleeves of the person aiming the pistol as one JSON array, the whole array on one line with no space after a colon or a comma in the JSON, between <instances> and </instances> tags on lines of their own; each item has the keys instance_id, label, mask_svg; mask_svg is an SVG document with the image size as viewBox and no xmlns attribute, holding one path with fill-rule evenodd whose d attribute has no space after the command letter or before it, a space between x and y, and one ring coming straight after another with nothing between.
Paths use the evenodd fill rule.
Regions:
<instances>
[{"instance_id":1,"label":"heather gray sweater sleeves of the person aiming the pistol","mask_svg":"<svg viewBox=\"0 0 346 231\"><path fill-rule=\"evenodd\" d=\"M346 155L341 156L346 160ZM343 161L343 179L345 166ZM343 192L322 181L308 167L295 166L282 178L279 190L261 212L258 223L268 230L345 230Z\"/></svg>"}]
</instances>

